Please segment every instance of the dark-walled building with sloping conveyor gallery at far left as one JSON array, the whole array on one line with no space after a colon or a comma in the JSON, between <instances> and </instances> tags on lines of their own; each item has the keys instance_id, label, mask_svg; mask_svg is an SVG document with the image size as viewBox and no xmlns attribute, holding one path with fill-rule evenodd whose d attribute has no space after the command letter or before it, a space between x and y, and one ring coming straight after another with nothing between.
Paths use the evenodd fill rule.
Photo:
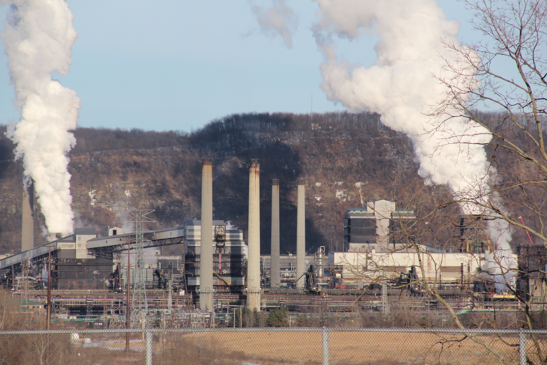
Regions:
<instances>
[{"instance_id":1,"label":"dark-walled building with sloping conveyor gallery at far left","mask_svg":"<svg viewBox=\"0 0 547 365\"><path fill-rule=\"evenodd\" d=\"M181 244L184 242L184 227L158 229L145 236L149 248ZM115 289L126 271L121 270L120 257L124 252L126 255L128 246L134 250L134 240L134 233L96 237L95 229L76 228L70 236L0 260L3 282L10 287L21 287L21 281L30 281L28 285L31 288L44 288L48 281L46 265L51 259L54 289ZM159 253L155 251L154 259L145 260L144 270L148 271L150 286L154 285L153 271L158 264L161 266ZM167 259L163 259L165 266Z\"/></svg>"}]
</instances>

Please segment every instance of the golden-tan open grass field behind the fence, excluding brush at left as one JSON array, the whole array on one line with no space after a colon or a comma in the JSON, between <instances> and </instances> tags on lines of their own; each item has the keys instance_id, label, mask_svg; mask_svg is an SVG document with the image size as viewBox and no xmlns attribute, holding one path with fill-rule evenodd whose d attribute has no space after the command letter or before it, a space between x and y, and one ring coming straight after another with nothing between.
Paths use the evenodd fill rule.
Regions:
<instances>
[{"instance_id":1,"label":"golden-tan open grass field behind the fence, excluding brush at left","mask_svg":"<svg viewBox=\"0 0 547 365\"><path fill-rule=\"evenodd\" d=\"M432 333L331 332L331 364L498 364L484 347L462 335ZM513 361L515 347L499 339L482 337ZM505 338L514 343L515 338ZM162 348L160 348L160 344ZM321 332L213 332L175 335L157 343L155 362L176 363L251 363L320 364ZM201 349L199 354L188 349ZM182 353L181 353L182 351ZM201 357L199 360L197 358ZM192 359L197 361L193 361ZM205 358L208 358L205 361Z\"/></svg>"}]
</instances>

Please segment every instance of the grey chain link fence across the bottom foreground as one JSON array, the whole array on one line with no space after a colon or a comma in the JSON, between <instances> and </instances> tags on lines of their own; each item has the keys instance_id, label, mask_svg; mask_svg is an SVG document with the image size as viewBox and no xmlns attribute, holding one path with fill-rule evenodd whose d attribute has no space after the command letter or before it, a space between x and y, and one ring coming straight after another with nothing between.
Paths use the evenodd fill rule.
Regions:
<instances>
[{"instance_id":1,"label":"grey chain link fence across the bottom foreground","mask_svg":"<svg viewBox=\"0 0 547 365\"><path fill-rule=\"evenodd\" d=\"M545 363L547 330L72 329L0 332L0 364Z\"/></svg>"}]
</instances>

